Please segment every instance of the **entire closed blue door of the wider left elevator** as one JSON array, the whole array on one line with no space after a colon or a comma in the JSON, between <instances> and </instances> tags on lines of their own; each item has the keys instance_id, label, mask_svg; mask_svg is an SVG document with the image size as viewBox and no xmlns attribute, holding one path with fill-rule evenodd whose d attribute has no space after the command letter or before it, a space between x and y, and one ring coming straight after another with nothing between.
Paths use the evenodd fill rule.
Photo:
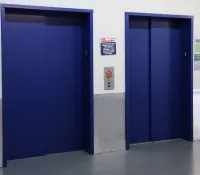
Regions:
<instances>
[{"instance_id":1,"label":"entire closed blue door of the wider left elevator","mask_svg":"<svg viewBox=\"0 0 200 175\"><path fill-rule=\"evenodd\" d=\"M7 15L6 34L8 159L82 149L81 21Z\"/></svg>"}]
</instances>

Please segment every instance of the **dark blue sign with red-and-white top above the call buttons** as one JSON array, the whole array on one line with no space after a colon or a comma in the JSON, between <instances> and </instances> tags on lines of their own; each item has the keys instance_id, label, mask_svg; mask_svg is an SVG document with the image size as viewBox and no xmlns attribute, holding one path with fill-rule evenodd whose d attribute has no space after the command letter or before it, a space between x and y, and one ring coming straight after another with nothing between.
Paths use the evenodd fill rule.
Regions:
<instances>
[{"instance_id":1,"label":"dark blue sign with red-and-white top above the call buttons","mask_svg":"<svg viewBox=\"0 0 200 175\"><path fill-rule=\"evenodd\" d=\"M101 55L116 55L115 38L101 38L100 47L101 47Z\"/></svg>"}]
</instances>

